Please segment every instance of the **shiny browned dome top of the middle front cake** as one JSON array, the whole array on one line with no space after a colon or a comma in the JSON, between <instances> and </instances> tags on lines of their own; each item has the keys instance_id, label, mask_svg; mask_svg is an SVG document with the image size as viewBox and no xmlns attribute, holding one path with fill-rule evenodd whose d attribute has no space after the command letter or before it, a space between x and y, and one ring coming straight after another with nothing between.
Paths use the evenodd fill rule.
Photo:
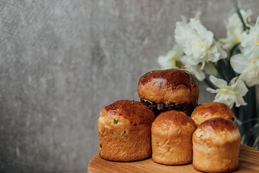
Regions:
<instances>
[{"instance_id":1,"label":"shiny browned dome top of the middle front cake","mask_svg":"<svg viewBox=\"0 0 259 173\"><path fill-rule=\"evenodd\" d=\"M152 128L159 128L161 130L174 130L178 131L179 128L185 131L192 130L186 128L187 126L195 127L194 121L181 111L167 111L159 114L152 124Z\"/></svg>"}]
</instances>

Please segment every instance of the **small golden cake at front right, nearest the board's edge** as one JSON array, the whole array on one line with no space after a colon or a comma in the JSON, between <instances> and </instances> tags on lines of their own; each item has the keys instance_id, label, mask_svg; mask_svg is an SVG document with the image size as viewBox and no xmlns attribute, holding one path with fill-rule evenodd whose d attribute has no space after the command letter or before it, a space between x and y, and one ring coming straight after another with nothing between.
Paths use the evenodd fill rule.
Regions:
<instances>
[{"instance_id":1,"label":"small golden cake at front right, nearest the board's edge","mask_svg":"<svg viewBox=\"0 0 259 173\"><path fill-rule=\"evenodd\" d=\"M238 169L240 132L233 121L213 118L200 124L192 135L194 169L226 173Z\"/></svg>"}]
</instances>

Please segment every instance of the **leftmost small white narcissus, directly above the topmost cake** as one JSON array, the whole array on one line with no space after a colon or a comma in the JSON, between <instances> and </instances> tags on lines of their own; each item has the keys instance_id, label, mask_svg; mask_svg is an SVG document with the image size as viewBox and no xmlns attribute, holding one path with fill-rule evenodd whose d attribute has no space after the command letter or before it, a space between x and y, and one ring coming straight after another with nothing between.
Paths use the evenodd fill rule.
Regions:
<instances>
[{"instance_id":1,"label":"leftmost small white narcissus, directly above the topmost cake","mask_svg":"<svg viewBox=\"0 0 259 173\"><path fill-rule=\"evenodd\" d=\"M172 50L169 50L165 56L158 56L157 62L162 69L182 68L181 56L183 50L179 45L175 45Z\"/></svg>"}]
</instances>

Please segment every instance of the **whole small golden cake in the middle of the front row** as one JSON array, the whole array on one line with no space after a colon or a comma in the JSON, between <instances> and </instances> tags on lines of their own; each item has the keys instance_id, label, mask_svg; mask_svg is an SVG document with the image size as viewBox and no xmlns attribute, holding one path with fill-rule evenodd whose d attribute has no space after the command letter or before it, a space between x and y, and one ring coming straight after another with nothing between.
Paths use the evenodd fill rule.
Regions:
<instances>
[{"instance_id":1,"label":"whole small golden cake in the middle of the front row","mask_svg":"<svg viewBox=\"0 0 259 173\"><path fill-rule=\"evenodd\" d=\"M152 159L163 165L185 165L192 161L193 120L184 112L161 113L151 127Z\"/></svg>"}]
</instances>

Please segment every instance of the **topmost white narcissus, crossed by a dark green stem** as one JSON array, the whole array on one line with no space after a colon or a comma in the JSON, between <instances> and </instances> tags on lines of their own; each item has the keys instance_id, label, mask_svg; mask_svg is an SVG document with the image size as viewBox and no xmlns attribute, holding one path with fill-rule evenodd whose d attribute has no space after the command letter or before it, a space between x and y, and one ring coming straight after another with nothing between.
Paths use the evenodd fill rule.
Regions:
<instances>
[{"instance_id":1,"label":"topmost white narcissus, crossed by a dark green stem","mask_svg":"<svg viewBox=\"0 0 259 173\"><path fill-rule=\"evenodd\" d=\"M252 11L240 10L240 12L245 24L247 24L247 22L250 22L251 16L253 14ZM234 13L228 18L226 23L226 38L220 39L219 41L222 43L223 48L229 49L235 44L241 43L243 33L243 24L237 13Z\"/></svg>"}]
</instances>

